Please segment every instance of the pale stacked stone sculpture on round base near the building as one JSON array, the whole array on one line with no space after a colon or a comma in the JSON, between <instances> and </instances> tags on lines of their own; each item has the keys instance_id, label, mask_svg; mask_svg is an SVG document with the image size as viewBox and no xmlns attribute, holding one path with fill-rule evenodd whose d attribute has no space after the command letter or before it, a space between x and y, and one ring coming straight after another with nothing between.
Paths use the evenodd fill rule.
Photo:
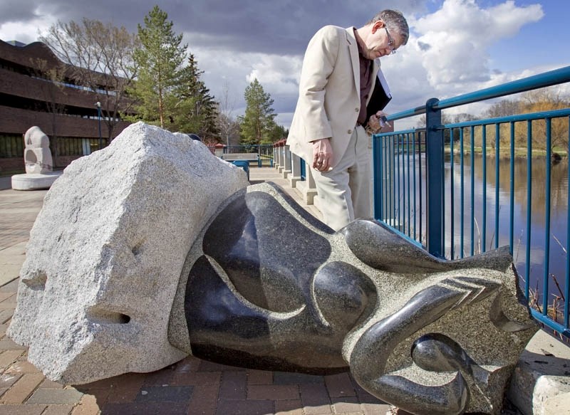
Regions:
<instances>
[{"instance_id":1,"label":"pale stacked stone sculpture on round base near the building","mask_svg":"<svg viewBox=\"0 0 570 415\"><path fill-rule=\"evenodd\" d=\"M24 134L24 145L26 174L15 174L11 177L12 189L49 189L61 172L53 172L48 136L40 127L30 127Z\"/></svg>"}]
</instances>

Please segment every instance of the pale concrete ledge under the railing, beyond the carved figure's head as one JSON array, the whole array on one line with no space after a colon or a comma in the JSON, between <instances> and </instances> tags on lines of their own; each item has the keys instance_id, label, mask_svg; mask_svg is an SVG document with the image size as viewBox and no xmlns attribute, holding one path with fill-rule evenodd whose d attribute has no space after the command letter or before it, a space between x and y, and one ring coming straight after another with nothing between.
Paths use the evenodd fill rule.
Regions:
<instances>
[{"instance_id":1,"label":"pale concrete ledge under the railing, beyond the carved figure's head","mask_svg":"<svg viewBox=\"0 0 570 415\"><path fill-rule=\"evenodd\" d=\"M570 414L570 347L539 330L521 354L507 397L524 415Z\"/></svg>"}]
</instances>

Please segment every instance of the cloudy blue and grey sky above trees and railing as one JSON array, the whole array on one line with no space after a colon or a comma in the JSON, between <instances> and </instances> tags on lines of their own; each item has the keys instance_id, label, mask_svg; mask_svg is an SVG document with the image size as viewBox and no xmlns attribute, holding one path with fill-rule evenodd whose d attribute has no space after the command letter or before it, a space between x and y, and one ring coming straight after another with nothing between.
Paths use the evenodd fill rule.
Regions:
<instances>
[{"instance_id":1,"label":"cloudy blue and grey sky above trees and railing","mask_svg":"<svg viewBox=\"0 0 570 415\"><path fill-rule=\"evenodd\" d=\"M227 95L232 115L242 115L257 78L285 128L311 36L327 24L360 28L383 9L402 11L410 26L408 44L380 58L389 113L570 65L569 0L1 0L0 39L31 43L53 23L83 17L135 33L155 4L184 34L214 98ZM452 112L477 115L490 104ZM405 123L396 127L413 126Z\"/></svg>"}]
</instances>

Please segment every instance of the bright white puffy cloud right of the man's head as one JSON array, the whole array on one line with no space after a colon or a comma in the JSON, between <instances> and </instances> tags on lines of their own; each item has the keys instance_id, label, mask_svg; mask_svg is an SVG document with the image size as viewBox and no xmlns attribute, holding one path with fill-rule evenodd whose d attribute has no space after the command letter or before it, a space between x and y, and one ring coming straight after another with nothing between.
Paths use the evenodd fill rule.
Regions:
<instances>
[{"instance_id":1,"label":"bright white puffy cloud right of the man's head","mask_svg":"<svg viewBox=\"0 0 570 415\"><path fill-rule=\"evenodd\" d=\"M444 95L477 89L492 79L489 46L543 15L539 4L505 1L483 9L475 0L446 0L440 10L410 22L428 83Z\"/></svg>"}]
</instances>

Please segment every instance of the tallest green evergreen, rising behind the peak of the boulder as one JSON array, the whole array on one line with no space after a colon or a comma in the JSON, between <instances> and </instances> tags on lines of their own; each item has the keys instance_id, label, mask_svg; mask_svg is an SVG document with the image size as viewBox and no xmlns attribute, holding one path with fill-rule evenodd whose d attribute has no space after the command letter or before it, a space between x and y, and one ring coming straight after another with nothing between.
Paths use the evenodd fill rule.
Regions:
<instances>
[{"instance_id":1,"label":"tallest green evergreen, rising behind the peak of the boulder","mask_svg":"<svg viewBox=\"0 0 570 415\"><path fill-rule=\"evenodd\" d=\"M145 16L145 26L138 25L140 48L135 49L134 59L138 65L138 80L130 90L138 100L137 112L145 122L166 125L176 99L174 90L180 85L182 63L188 46L181 45L182 34L172 31L172 21L158 6Z\"/></svg>"}]
</instances>

